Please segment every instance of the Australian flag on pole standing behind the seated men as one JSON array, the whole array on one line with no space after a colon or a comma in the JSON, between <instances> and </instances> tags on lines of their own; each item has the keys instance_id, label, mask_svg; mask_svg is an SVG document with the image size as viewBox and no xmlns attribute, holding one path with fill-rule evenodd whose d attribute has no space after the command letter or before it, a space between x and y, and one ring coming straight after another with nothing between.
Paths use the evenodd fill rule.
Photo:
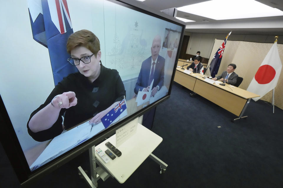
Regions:
<instances>
[{"instance_id":1,"label":"Australian flag on pole standing behind the seated men","mask_svg":"<svg viewBox=\"0 0 283 188\"><path fill-rule=\"evenodd\" d=\"M223 43L219 47L218 51L214 54L213 59L211 60L209 70L210 70L210 74L211 74L212 78L214 78L215 75L218 73L218 69L219 69L219 66L220 66L220 63L221 63L221 60L222 60L226 41L228 39L228 36L231 34L231 32L226 36L225 40L223 41Z\"/></svg>"}]
</instances>

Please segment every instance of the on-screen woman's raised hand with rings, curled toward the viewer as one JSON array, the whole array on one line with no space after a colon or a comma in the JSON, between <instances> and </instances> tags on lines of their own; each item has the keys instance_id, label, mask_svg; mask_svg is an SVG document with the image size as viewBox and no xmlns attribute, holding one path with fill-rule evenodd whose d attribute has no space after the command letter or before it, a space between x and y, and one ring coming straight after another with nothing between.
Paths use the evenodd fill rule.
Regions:
<instances>
[{"instance_id":1,"label":"on-screen woman's raised hand with rings, curled toward the viewer","mask_svg":"<svg viewBox=\"0 0 283 188\"><path fill-rule=\"evenodd\" d=\"M56 98L52 100L52 104L55 108L70 108L77 104L76 94L73 91L62 93L61 95L57 95Z\"/></svg>"}]
</instances>

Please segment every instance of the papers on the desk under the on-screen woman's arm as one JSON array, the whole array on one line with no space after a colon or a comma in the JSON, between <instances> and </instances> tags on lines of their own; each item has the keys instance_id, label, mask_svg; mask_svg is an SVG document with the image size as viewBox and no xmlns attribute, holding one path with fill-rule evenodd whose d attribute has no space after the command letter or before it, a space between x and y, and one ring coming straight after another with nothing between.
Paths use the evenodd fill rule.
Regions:
<instances>
[{"instance_id":1,"label":"papers on the desk under the on-screen woman's arm","mask_svg":"<svg viewBox=\"0 0 283 188\"><path fill-rule=\"evenodd\" d=\"M29 168L34 170L41 167L105 129L101 122L97 125L93 125L92 129L91 127L92 126L87 121L53 138L53 140Z\"/></svg>"}]
</instances>

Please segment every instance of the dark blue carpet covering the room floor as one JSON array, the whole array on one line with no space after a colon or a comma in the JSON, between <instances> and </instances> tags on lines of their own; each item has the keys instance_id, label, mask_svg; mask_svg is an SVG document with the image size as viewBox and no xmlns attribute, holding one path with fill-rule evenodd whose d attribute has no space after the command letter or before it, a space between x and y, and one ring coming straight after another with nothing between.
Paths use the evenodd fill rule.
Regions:
<instances>
[{"instance_id":1,"label":"dark blue carpet covering the room floor","mask_svg":"<svg viewBox=\"0 0 283 188\"><path fill-rule=\"evenodd\" d=\"M283 187L283 110L251 100L246 119L174 83L171 97L157 106L152 131L163 138L153 154L168 164L147 159L124 183L108 178L98 187ZM218 128L221 126L221 128ZM0 148L0 187L19 182ZM88 152L76 157L31 187L88 187L77 167L89 171Z\"/></svg>"}]
</instances>

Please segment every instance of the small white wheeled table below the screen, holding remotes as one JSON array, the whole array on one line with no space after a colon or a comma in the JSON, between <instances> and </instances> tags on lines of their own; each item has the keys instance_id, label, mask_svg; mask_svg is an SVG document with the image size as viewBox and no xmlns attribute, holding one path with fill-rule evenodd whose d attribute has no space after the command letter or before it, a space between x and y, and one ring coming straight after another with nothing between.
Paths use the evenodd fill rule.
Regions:
<instances>
[{"instance_id":1,"label":"small white wheeled table below the screen, holding remotes","mask_svg":"<svg viewBox=\"0 0 283 188\"><path fill-rule=\"evenodd\" d=\"M110 142L116 147L116 135L111 136L101 144L95 146L95 148L100 148L102 151L107 150L108 147L105 145L106 142ZM116 156L114 160L110 159L110 162L107 164L95 152L94 147L90 148L90 158L92 158L91 155L94 156L95 154L95 160L92 161L92 159L90 159L91 166L92 164L94 165L94 176L92 175L92 181L87 177L86 174L84 175L84 172L80 167L78 168L79 172L84 176L83 178L85 178L88 183L93 183L93 186L97 187L97 180L99 177L105 181L109 176L112 176L115 177L118 182L124 183L147 157L150 157L155 162L159 163L161 169L164 171L166 170L167 164L152 154L153 150L161 142L162 137L138 123L136 132L117 147L121 151L122 155L120 157ZM98 163L101 169L97 169L95 163ZM98 174L96 175L96 173Z\"/></svg>"}]
</instances>

